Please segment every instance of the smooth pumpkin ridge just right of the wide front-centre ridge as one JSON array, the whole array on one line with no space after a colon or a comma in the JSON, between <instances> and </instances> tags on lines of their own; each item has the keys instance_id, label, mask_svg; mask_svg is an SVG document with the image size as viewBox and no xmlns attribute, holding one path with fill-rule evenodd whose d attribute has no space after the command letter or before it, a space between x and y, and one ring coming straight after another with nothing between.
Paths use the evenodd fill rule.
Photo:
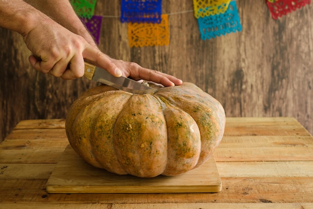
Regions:
<instances>
[{"instance_id":1,"label":"smooth pumpkin ridge just right of the wide front-centre ridge","mask_svg":"<svg viewBox=\"0 0 313 209\"><path fill-rule=\"evenodd\" d=\"M196 121L188 112L173 105L161 95L155 97L162 106L167 127L167 163L162 175L179 175L193 169L198 163L200 132ZM178 119L175 119L176 115L179 115ZM187 134L183 136L183 133Z\"/></svg>"}]
</instances>

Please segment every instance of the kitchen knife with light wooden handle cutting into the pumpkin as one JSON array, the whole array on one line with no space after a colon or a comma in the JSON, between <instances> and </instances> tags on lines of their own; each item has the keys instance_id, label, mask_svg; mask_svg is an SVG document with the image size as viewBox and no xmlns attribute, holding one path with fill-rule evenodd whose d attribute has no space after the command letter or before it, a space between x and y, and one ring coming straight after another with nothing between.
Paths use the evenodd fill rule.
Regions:
<instances>
[{"instance_id":1,"label":"kitchen knife with light wooden handle cutting into the pumpkin","mask_svg":"<svg viewBox=\"0 0 313 209\"><path fill-rule=\"evenodd\" d=\"M84 65L85 71L83 76L89 80L104 83L120 90L135 94L153 93L157 90L124 76L115 77L105 69L97 67L93 64L85 62Z\"/></svg>"}]
</instances>

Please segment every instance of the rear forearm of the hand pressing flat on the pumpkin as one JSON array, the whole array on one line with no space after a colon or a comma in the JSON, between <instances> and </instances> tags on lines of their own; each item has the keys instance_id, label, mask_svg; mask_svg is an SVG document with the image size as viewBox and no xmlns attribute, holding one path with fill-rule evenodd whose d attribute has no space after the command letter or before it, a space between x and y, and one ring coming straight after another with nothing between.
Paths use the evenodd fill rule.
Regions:
<instances>
[{"instance_id":1,"label":"rear forearm of the hand pressing flat on the pumpkin","mask_svg":"<svg viewBox=\"0 0 313 209\"><path fill-rule=\"evenodd\" d=\"M82 36L89 44L96 46L92 36L75 14L68 0L26 0L54 21L71 32Z\"/></svg>"}]
</instances>

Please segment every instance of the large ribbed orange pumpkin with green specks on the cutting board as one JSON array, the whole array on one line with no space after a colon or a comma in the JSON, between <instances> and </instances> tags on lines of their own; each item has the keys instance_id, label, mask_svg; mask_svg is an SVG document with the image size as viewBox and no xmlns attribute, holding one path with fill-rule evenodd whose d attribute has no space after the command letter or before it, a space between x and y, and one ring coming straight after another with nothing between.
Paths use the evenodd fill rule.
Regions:
<instances>
[{"instance_id":1,"label":"large ribbed orange pumpkin with green specks on the cutting board","mask_svg":"<svg viewBox=\"0 0 313 209\"><path fill-rule=\"evenodd\" d=\"M179 175L203 164L225 125L221 104L195 84L133 94L100 85L70 106L65 130L88 163L139 177Z\"/></svg>"}]
</instances>

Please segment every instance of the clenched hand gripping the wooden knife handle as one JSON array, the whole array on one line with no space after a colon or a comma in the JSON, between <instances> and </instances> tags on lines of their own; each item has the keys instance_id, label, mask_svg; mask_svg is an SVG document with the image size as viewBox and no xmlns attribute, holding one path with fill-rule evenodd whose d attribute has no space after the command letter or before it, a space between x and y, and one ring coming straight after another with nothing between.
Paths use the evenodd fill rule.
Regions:
<instances>
[{"instance_id":1,"label":"clenched hand gripping the wooden knife handle","mask_svg":"<svg viewBox=\"0 0 313 209\"><path fill-rule=\"evenodd\" d=\"M83 37L72 33L50 18L37 21L22 35L25 44L33 53L28 58L31 66L38 71L63 79L83 76L83 52L95 51Z\"/></svg>"}]
</instances>

